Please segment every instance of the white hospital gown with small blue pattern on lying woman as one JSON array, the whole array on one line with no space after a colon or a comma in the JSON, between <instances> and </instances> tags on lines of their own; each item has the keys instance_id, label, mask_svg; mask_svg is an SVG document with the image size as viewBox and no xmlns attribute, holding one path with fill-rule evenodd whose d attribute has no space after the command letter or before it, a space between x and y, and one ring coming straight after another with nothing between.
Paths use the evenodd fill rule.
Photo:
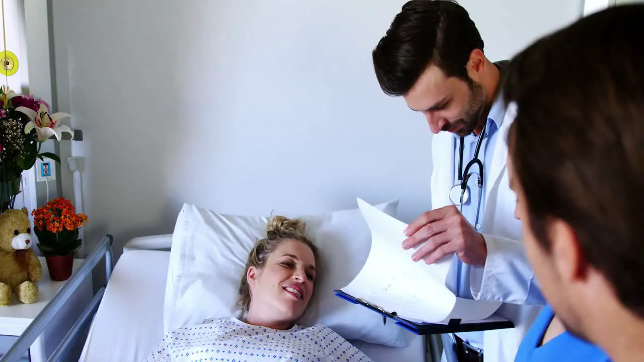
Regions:
<instances>
[{"instance_id":1,"label":"white hospital gown with small blue pattern on lying woman","mask_svg":"<svg viewBox=\"0 0 644 362\"><path fill-rule=\"evenodd\" d=\"M325 326L275 330L236 318L208 319L176 329L166 334L145 361L372 362Z\"/></svg>"}]
</instances>

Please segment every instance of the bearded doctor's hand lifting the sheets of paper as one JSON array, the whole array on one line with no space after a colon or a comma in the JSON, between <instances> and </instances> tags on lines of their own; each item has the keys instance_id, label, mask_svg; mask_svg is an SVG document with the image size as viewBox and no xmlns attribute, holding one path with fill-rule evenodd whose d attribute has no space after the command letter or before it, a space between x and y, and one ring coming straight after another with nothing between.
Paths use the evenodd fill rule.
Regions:
<instances>
[{"instance_id":1,"label":"bearded doctor's hand lifting the sheets of paper","mask_svg":"<svg viewBox=\"0 0 644 362\"><path fill-rule=\"evenodd\" d=\"M462 262L482 266L488 256L483 235L477 233L455 205L423 213L407 227L405 236L408 238L403 241L403 249L424 242L414 252L414 262L422 259L431 264L455 252Z\"/></svg>"}]
</instances>

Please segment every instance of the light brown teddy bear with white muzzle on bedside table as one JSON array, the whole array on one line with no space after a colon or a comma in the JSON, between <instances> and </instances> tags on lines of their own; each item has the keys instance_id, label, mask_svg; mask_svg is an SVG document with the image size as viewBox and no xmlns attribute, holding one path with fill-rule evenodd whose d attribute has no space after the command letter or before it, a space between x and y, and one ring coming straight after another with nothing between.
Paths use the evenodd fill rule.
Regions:
<instances>
[{"instance_id":1,"label":"light brown teddy bear with white muzzle on bedside table","mask_svg":"<svg viewBox=\"0 0 644 362\"><path fill-rule=\"evenodd\" d=\"M38 300L43 266L31 248L28 215L26 207L0 214L0 305L11 303L12 291L23 303Z\"/></svg>"}]
</instances>

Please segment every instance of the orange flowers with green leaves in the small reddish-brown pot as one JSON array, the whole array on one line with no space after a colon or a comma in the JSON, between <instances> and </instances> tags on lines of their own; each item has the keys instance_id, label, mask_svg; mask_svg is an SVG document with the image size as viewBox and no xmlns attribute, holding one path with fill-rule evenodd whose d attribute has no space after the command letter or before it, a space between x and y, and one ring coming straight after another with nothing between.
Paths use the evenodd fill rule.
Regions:
<instances>
[{"instance_id":1,"label":"orange flowers with green leaves in the small reddish-brown pot","mask_svg":"<svg viewBox=\"0 0 644 362\"><path fill-rule=\"evenodd\" d=\"M65 256L81 247L79 229L87 222L77 214L70 200L59 197L32 211L33 232L44 256Z\"/></svg>"}]
</instances>

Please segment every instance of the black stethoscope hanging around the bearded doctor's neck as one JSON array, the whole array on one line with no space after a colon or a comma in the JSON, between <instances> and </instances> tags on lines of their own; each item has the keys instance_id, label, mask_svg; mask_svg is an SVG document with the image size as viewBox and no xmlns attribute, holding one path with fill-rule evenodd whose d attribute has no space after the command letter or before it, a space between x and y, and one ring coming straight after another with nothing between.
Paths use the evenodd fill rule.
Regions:
<instances>
[{"instance_id":1,"label":"black stethoscope hanging around the bearded doctor's neck","mask_svg":"<svg viewBox=\"0 0 644 362\"><path fill-rule=\"evenodd\" d=\"M478 214L480 213L480 207L481 207L481 196L483 195L483 162L478 158L478 151L481 149L481 144L483 143L483 137L485 135L485 129L486 125L483 126L483 129L481 130L480 135L478 135L478 140L477 140L477 146L474 149L474 157L471 159L471 161L468 162L467 166L465 166L465 170L462 169L463 167L463 149L464 149L464 144L465 144L465 138L460 137L460 144L459 144L459 170L457 171L457 182L454 186L451 187L450 189L450 201L454 205L460 205L460 212L463 212L463 204L468 202L469 200L469 190L468 190L468 181L469 178L472 175L477 175L477 186L478 186L478 202L477 202L477 214L476 218L474 221L474 227L477 230L481 229L481 225L478 223ZM469 169L474 166L478 166L478 173L476 172L470 172ZM465 175L465 177L463 177Z\"/></svg>"}]
</instances>

